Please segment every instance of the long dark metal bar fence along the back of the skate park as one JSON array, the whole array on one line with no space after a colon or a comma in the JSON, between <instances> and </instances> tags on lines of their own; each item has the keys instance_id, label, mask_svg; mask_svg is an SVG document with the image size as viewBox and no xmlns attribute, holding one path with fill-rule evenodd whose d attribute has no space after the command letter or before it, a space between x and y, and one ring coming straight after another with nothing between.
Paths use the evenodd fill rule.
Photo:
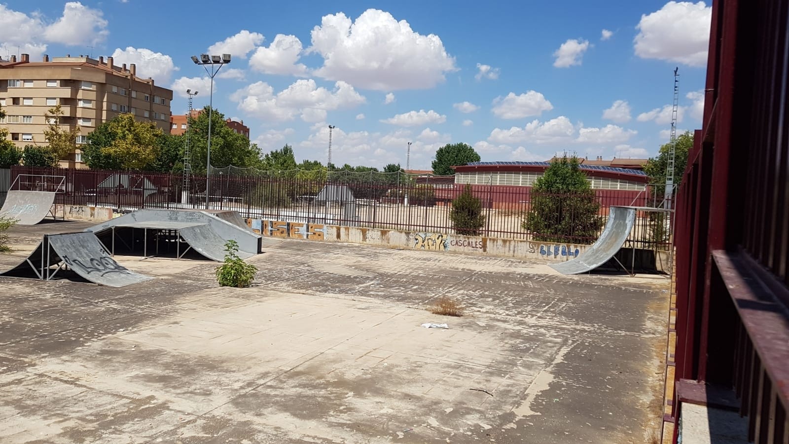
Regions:
<instances>
[{"instance_id":1,"label":"long dark metal bar fence along the back of the skate park","mask_svg":"<svg viewBox=\"0 0 789 444\"><path fill-rule=\"evenodd\" d=\"M464 190L454 176L406 175L368 171L267 171L212 168L206 193L205 176L133 171L95 171L65 168L13 167L17 175L61 175L65 192L57 204L106 206L114 209L219 209L264 220L289 220L405 231L453 233L452 201ZM548 240L525 228L534 213L537 193L529 186L473 185L481 201L484 224L479 235L513 239ZM545 196L542 196L545 198ZM567 196L555 196L567 201ZM564 231L552 240L593 243L602 231L611 205L649 205L653 190L595 190L599 208L595 229ZM581 216L576 208L543 215L548 225ZM555 220L551 220L554 217ZM667 249L667 221L639 212L630 244L637 248Z\"/></svg>"}]
</instances>

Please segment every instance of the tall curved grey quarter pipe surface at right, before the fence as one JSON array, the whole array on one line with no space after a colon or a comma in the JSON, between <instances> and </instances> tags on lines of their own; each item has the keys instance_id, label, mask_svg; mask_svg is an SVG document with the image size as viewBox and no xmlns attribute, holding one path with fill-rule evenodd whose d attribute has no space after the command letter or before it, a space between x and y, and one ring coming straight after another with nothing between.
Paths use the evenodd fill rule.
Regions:
<instances>
[{"instance_id":1,"label":"tall curved grey quarter pipe surface at right, before the fence","mask_svg":"<svg viewBox=\"0 0 789 444\"><path fill-rule=\"evenodd\" d=\"M608 223L603 234L578 258L571 261L551 264L551 268L562 274L587 273L608 262L622 248L636 220L634 208L612 206L608 213Z\"/></svg>"}]
</instances>

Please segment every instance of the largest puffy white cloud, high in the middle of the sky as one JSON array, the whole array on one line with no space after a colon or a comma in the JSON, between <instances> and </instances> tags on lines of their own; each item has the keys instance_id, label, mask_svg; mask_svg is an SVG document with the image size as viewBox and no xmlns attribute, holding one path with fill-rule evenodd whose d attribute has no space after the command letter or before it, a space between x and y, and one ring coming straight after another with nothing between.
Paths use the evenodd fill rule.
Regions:
<instances>
[{"instance_id":1,"label":"largest puffy white cloud, high in the middle of the sky","mask_svg":"<svg viewBox=\"0 0 789 444\"><path fill-rule=\"evenodd\" d=\"M308 52L323 57L317 76L378 91L432 88L456 70L439 36L414 32L378 9L356 21L344 13L323 16Z\"/></svg>"}]
</instances>

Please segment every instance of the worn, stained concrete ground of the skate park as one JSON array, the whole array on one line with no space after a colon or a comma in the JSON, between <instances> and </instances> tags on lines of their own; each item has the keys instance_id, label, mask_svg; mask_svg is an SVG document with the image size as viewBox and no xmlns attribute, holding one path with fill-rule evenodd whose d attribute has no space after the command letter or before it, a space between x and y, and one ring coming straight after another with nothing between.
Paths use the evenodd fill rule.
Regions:
<instances>
[{"instance_id":1,"label":"worn, stained concrete ground of the skate park","mask_svg":"<svg viewBox=\"0 0 789 444\"><path fill-rule=\"evenodd\" d=\"M43 232L12 228L20 262ZM125 288L0 278L0 442L650 442L667 280L283 240L214 262L119 258ZM439 296L466 307L424 310ZM447 322L449 329L425 329Z\"/></svg>"}]
</instances>

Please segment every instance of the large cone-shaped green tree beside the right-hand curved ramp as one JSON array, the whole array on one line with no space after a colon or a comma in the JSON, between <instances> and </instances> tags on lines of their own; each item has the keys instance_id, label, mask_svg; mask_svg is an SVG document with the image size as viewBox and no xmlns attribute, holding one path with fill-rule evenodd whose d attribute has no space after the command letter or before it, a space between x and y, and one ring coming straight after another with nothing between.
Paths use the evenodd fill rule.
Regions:
<instances>
[{"instance_id":1,"label":"large cone-shaped green tree beside the right-hand curved ramp","mask_svg":"<svg viewBox=\"0 0 789 444\"><path fill-rule=\"evenodd\" d=\"M531 208L522 228L544 242L592 243L602 220L600 203L578 157L563 156L551 163L534 183Z\"/></svg>"}]
</instances>

